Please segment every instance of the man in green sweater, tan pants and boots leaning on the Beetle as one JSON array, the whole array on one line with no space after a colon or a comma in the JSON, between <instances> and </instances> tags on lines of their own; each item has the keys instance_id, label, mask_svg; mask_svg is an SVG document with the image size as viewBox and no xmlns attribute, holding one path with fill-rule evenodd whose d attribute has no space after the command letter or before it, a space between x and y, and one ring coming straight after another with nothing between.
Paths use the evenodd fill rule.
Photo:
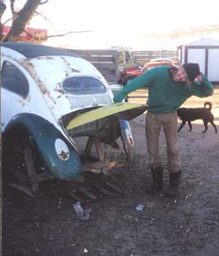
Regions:
<instances>
[{"instance_id":1,"label":"man in green sweater, tan pants and boots leaning on the Beetle","mask_svg":"<svg viewBox=\"0 0 219 256\"><path fill-rule=\"evenodd\" d=\"M197 97L212 95L213 86L210 80L199 71L199 64L156 67L131 80L115 95L114 102L121 102L131 91L142 87L148 88L145 132L153 179L153 184L147 193L157 195L164 190L163 167L158 152L158 140L163 127L166 138L166 169L169 171L169 190L166 195L175 197L179 194L181 176L176 110L192 95Z\"/></svg>"}]
</instances>

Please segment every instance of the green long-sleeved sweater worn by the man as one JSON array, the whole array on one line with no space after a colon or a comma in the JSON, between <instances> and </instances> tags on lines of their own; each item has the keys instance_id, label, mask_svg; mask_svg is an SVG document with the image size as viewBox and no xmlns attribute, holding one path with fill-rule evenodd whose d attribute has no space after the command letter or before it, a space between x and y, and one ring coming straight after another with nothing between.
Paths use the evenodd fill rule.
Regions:
<instances>
[{"instance_id":1,"label":"green long-sleeved sweater worn by the man","mask_svg":"<svg viewBox=\"0 0 219 256\"><path fill-rule=\"evenodd\" d=\"M156 67L131 80L114 97L114 102L121 102L131 91L142 87L148 88L148 109L152 113L174 113L186 99L195 95L208 97L213 94L210 80L202 74L202 82L194 81L191 86L185 82L174 82L169 67Z\"/></svg>"}]
</instances>

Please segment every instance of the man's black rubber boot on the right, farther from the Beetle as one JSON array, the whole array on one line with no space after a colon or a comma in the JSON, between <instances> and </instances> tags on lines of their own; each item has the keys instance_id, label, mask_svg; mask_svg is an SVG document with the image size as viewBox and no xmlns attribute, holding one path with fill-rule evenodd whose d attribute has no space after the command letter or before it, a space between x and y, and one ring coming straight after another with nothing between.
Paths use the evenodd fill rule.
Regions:
<instances>
[{"instance_id":1,"label":"man's black rubber boot on the right, farther from the Beetle","mask_svg":"<svg viewBox=\"0 0 219 256\"><path fill-rule=\"evenodd\" d=\"M180 176L181 170L178 170L177 173L169 173L169 189L166 191L167 197L174 198L180 194Z\"/></svg>"}]
</instances>

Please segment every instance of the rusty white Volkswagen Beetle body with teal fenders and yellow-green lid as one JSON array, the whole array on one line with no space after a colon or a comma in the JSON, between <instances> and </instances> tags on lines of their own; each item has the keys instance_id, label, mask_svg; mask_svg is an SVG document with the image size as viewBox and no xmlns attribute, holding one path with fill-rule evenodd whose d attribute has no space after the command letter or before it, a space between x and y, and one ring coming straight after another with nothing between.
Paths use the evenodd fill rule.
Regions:
<instances>
[{"instance_id":1,"label":"rusty white Volkswagen Beetle body with teal fenders and yellow-green lid","mask_svg":"<svg viewBox=\"0 0 219 256\"><path fill-rule=\"evenodd\" d=\"M33 173L40 169L39 174L48 177L80 180L82 157L90 154L89 146L96 145L101 161L101 143L116 148L117 138L131 138L128 124L121 129L121 122L128 123L122 119L134 118L146 108L113 104L112 99L100 72L68 50L22 42L1 44L3 148L20 146L28 175L35 179ZM69 126L74 119L77 124ZM81 154L76 138L88 139ZM31 170L36 165L39 169Z\"/></svg>"}]
</instances>

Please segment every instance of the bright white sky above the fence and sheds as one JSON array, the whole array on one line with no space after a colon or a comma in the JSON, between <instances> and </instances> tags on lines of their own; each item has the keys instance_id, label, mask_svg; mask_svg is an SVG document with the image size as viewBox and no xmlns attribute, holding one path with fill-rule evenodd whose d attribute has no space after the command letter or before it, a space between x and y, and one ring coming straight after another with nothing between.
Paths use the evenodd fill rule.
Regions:
<instances>
[{"instance_id":1,"label":"bright white sky above the fence and sheds","mask_svg":"<svg viewBox=\"0 0 219 256\"><path fill-rule=\"evenodd\" d=\"M134 45L139 35L219 24L218 9L215 0L49 0L38 11L50 22L38 16L31 26L46 28L49 35L89 30L50 41L107 48Z\"/></svg>"}]
</instances>

